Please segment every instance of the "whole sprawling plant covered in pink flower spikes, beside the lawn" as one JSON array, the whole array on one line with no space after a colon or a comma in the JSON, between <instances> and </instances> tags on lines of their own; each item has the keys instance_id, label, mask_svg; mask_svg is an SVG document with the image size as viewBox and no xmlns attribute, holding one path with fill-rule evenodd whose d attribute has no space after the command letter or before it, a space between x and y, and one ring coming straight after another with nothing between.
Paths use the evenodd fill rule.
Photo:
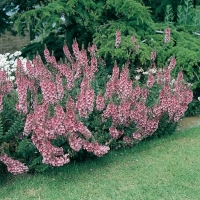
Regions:
<instances>
[{"instance_id":1,"label":"whole sprawling plant covered in pink flower spikes, beside the lawn","mask_svg":"<svg viewBox=\"0 0 200 200\"><path fill-rule=\"evenodd\" d=\"M116 36L118 48L121 41L119 30ZM168 28L165 42L169 39ZM84 149L96 156L103 156L109 151L112 139L133 144L152 135L163 114L168 113L170 121L178 121L192 100L192 91L183 80L182 72L179 72L176 80L171 80L170 71L175 67L175 58L163 70L157 70L154 64L154 70L148 75L144 86L136 85L129 78L128 65L120 72L115 64L105 90L96 94L92 81L98 70L97 47L92 45L87 52L85 49L80 50L75 41L72 49L74 56L64 45L67 59L64 63L58 63L47 48L44 50L46 66L39 55L32 61L33 64L28 61L26 66L18 60L16 84L19 101L16 108L27 114L24 134L31 134L32 142L43 157L43 163L62 166L70 162L70 155L62 147L53 145L52 140L57 137L65 137L75 152ZM152 61L155 56L154 51ZM76 82L80 82L78 87ZM160 88L158 101L149 107L146 100L154 85ZM72 90L76 91L73 97L70 95ZM31 102L27 101L28 92ZM105 144L99 143L83 123L95 110L101 114L102 126L107 120L112 122L109 127L110 138ZM133 124L135 131L130 137L124 130Z\"/></svg>"}]
</instances>

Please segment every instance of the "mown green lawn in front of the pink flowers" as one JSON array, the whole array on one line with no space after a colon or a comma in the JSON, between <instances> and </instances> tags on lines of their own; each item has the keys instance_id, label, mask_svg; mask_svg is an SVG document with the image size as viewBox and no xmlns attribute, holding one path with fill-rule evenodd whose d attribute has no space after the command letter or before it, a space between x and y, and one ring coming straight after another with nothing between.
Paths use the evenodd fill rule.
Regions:
<instances>
[{"instance_id":1,"label":"mown green lawn in front of the pink flowers","mask_svg":"<svg viewBox=\"0 0 200 200\"><path fill-rule=\"evenodd\" d=\"M0 199L200 199L200 127L111 151L102 158L10 177Z\"/></svg>"}]
</instances>

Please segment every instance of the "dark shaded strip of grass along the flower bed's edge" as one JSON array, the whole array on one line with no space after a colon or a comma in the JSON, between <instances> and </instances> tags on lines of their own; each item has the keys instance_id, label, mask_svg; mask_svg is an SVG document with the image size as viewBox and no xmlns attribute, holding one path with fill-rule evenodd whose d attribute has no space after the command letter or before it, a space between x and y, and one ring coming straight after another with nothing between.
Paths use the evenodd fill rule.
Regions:
<instances>
[{"instance_id":1,"label":"dark shaded strip of grass along the flower bed's edge","mask_svg":"<svg viewBox=\"0 0 200 200\"><path fill-rule=\"evenodd\" d=\"M149 137L145 140L135 144L132 148L122 148L119 150L112 149L107 155L103 157L88 157L85 160L72 160L69 164L62 167L51 167L45 172L35 173L35 174L23 174L18 176L8 175L3 178L1 182L2 186L7 184L14 184L16 179L35 179L43 180L47 179L52 181L55 177L58 179L60 184L64 184L66 181L68 183L76 183L79 180L85 178L85 175L93 176L93 172L101 173L102 170L109 170L110 166L117 165L123 159L128 158L130 154L134 158L138 157L143 151L150 151L152 148L157 146L170 143L174 140L181 140L183 138L193 138L195 135L200 133L200 127L194 127L187 129L186 131L176 131L174 134L164 134L160 137ZM79 177L77 179L77 176ZM12 183L11 183L12 182Z\"/></svg>"}]
</instances>

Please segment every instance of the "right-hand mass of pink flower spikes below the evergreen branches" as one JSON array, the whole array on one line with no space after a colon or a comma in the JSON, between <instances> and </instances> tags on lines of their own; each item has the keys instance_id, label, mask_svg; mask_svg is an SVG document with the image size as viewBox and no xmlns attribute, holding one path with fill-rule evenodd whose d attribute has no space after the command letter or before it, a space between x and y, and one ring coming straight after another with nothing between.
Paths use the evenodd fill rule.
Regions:
<instances>
[{"instance_id":1,"label":"right-hand mass of pink flower spikes below the evergreen branches","mask_svg":"<svg viewBox=\"0 0 200 200\"><path fill-rule=\"evenodd\" d=\"M145 88L136 86L132 89L133 82L128 78L128 68L124 68L121 73L119 73L118 67L113 68L113 74L106 85L105 93L106 99L110 102L102 114L103 122L107 118L112 119L113 125L109 132L113 138L117 139L124 134L123 129L117 130L121 125L128 126L134 122L136 131L133 133L133 139L140 140L152 135L157 130L160 117L164 113L169 114L170 121L178 121L183 116L188 104L192 101L193 94L184 83L182 72L179 72L175 81L171 80L170 71L174 68L175 61L175 58L172 58L169 67L164 70L155 68L149 70ZM145 102L149 90L155 84L155 77L157 77L157 84L162 89L159 94L159 102L153 108L148 108ZM112 101L112 96L117 96L116 104Z\"/></svg>"}]
</instances>

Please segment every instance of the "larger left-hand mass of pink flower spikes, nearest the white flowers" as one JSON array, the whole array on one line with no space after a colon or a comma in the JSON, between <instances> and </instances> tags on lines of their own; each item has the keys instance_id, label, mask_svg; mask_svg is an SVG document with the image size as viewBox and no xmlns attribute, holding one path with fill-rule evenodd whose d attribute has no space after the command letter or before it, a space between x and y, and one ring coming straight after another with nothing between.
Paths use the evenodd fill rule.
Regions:
<instances>
[{"instance_id":1,"label":"larger left-hand mass of pink flower spikes, nearest the white flowers","mask_svg":"<svg viewBox=\"0 0 200 200\"><path fill-rule=\"evenodd\" d=\"M64 46L66 57L70 64L58 64L53 56L50 56L48 49L44 50L46 61L56 69L51 72L42 63L39 55L33 62L27 62L25 67L20 60L17 63L16 84L19 92L18 111L27 113L27 91L31 91L33 99L32 110L27 115L24 127L24 134L32 133L32 141L43 157L43 163L52 166L61 166L70 161L69 154L65 153L62 147L55 147L51 141L58 136L65 137L74 151L80 149L93 152L97 156L102 156L108 152L109 147L100 145L97 141L89 142L92 133L76 117L77 114L87 117L93 111L95 94L91 87L91 81L94 73L97 71L97 49L95 45L90 47L91 61L87 58L86 51L79 51L78 44L75 41L73 51L75 58L72 58L67 46ZM76 60L76 61L75 61ZM80 85L80 92L76 96L76 101L68 97L66 102L66 112L59 105L59 100L65 96L65 90L71 90L74 87L74 80L79 76L84 77ZM66 87L63 78L67 79ZM42 92L42 100L38 102L37 93ZM99 109L103 109L104 102L101 102ZM54 107L52 116L49 106ZM103 107L102 107L103 106Z\"/></svg>"}]
</instances>

